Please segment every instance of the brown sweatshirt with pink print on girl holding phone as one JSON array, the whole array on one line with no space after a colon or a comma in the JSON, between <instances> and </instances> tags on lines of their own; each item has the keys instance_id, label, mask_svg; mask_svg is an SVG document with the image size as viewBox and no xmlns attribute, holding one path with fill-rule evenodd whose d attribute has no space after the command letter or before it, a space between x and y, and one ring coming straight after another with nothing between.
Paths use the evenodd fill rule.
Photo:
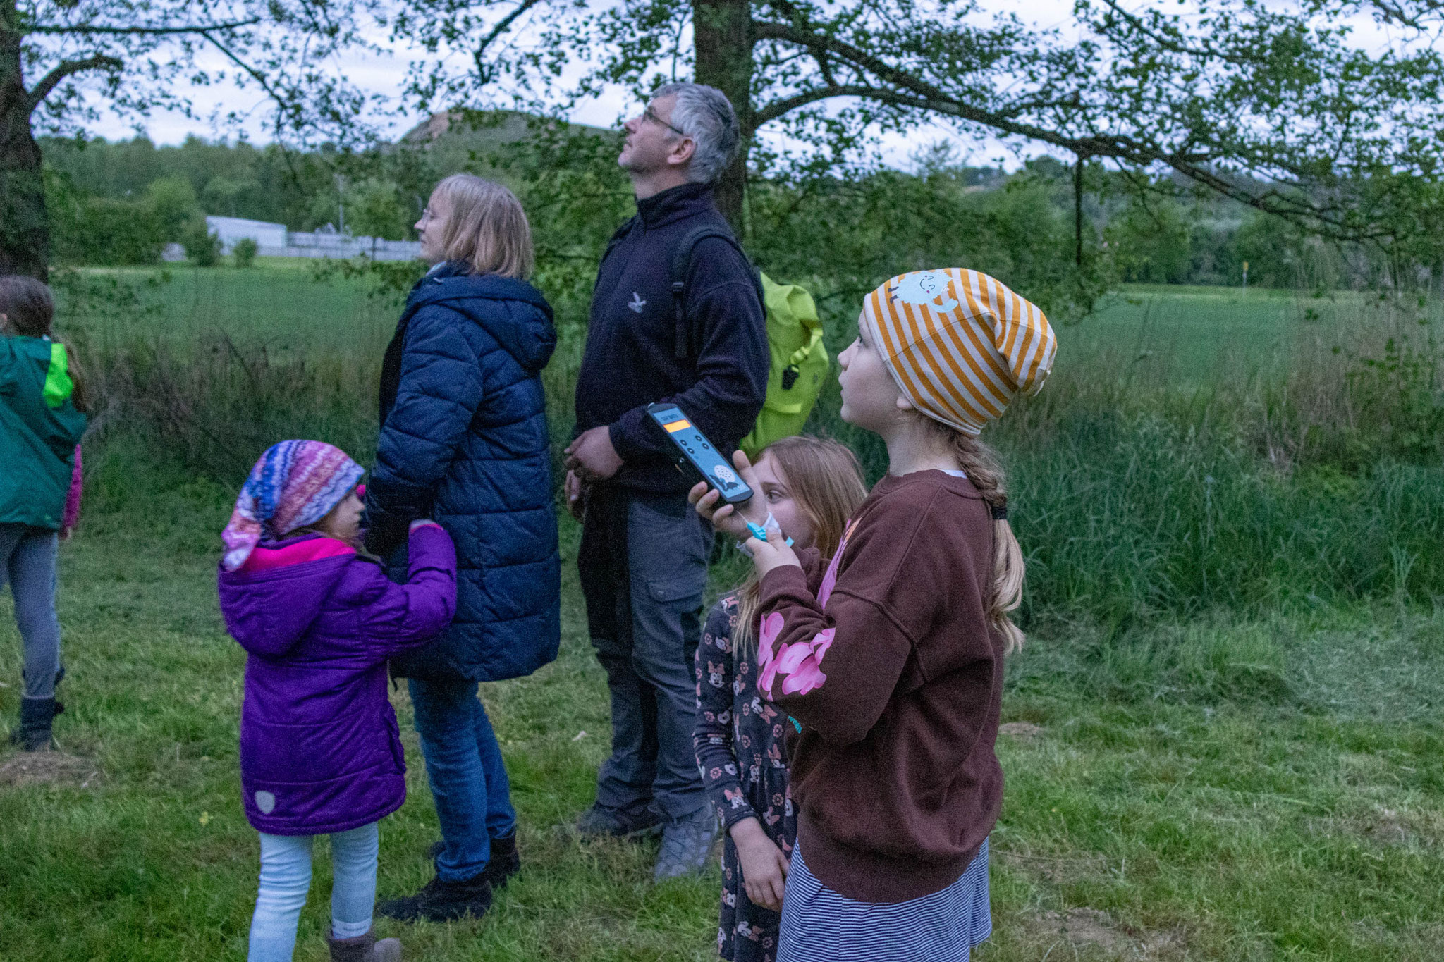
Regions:
<instances>
[{"instance_id":1,"label":"brown sweatshirt with pink print on girl holding phone","mask_svg":"<svg viewBox=\"0 0 1444 962\"><path fill-rule=\"evenodd\" d=\"M803 568L762 578L758 687L801 724L799 847L849 899L946 888L998 821L1004 642L986 617L992 555L992 518L972 482L926 470L872 490L835 584L814 551Z\"/></svg>"}]
</instances>

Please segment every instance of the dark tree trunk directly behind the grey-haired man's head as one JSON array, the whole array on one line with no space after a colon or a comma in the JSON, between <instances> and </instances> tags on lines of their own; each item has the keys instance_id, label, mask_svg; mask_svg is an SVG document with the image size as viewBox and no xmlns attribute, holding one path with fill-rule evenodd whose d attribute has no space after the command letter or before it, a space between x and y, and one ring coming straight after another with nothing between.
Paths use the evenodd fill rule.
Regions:
<instances>
[{"instance_id":1,"label":"dark tree trunk directly behind the grey-haired man's head","mask_svg":"<svg viewBox=\"0 0 1444 962\"><path fill-rule=\"evenodd\" d=\"M751 0L692 0L697 84L716 87L732 101L742 128L742 149L722 172L716 199L722 215L742 237L747 154L752 141L752 6Z\"/></svg>"}]
</instances>

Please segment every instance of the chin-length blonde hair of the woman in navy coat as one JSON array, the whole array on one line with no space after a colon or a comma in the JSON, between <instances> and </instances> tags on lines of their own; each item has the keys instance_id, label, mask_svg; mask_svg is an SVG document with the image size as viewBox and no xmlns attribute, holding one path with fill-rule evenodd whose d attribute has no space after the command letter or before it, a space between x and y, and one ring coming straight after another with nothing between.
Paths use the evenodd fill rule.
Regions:
<instances>
[{"instance_id":1,"label":"chin-length blonde hair of the woman in navy coat","mask_svg":"<svg viewBox=\"0 0 1444 962\"><path fill-rule=\"evenodd\" d=\"M436 192L451 202L442 234L448 261L466 261L478 274L531 277L531 224L517 195L471 173L453 173L436 185Z\"/></svg>"}]
</instances>

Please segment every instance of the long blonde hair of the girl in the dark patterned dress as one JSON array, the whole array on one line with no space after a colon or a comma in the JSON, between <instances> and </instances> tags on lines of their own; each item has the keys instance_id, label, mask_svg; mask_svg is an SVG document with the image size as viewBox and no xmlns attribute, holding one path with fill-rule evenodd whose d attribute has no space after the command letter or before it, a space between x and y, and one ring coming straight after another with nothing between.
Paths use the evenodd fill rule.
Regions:
<instances>
[{"instance_id":1,"label":"long blonde hair of the girl in the dark patterned dress","mask_svg":"<svg viewBox=\"0 0 1444 962\"><path fill-rule=\"evenodd\" d=\"M862 483L862 466L846 444L799 434L773 441L757 460L771 454L787 490L812 522L813 547L830 560L842 542L848 519L858 511L868 489ZM757 648L758 607L762 600L757 571L738 588L736 627L732 629L732 653L754 653Z\"/></svg>"}]
</instances>

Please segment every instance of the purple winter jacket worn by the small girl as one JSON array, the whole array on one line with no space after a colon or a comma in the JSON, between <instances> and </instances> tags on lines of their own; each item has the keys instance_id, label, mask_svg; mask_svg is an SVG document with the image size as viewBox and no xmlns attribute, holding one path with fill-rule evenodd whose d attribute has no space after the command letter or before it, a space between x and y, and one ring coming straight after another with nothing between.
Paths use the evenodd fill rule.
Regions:
<instances>
[{"instance_id":1,"label":"purple winter jacket worn by the small girl","mask_svg":"<svg viewBox=\"0 0 1444 962\"><path fill-rule=\"evenodd\" d=\"M221 570L221 613L241 643L241 796L269 835L344 832L406 800L386 662L456 612L456 550L436 525L410 535L410 578L323 535L261 542Z\"/></svg>"}]
</instances>

